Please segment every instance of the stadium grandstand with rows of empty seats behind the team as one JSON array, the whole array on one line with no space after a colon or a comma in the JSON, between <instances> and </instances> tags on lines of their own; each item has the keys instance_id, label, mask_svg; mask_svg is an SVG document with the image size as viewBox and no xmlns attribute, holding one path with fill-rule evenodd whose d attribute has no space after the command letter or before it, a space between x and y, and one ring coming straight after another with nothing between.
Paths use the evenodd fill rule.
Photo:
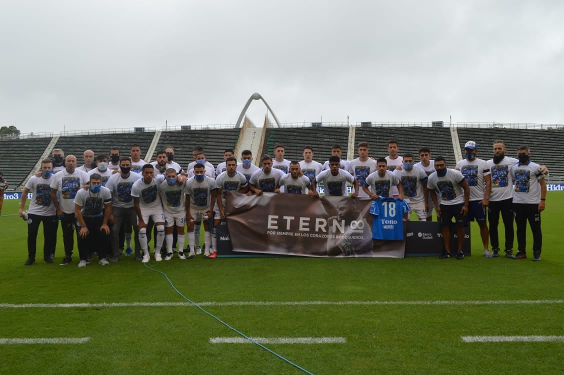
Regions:
<instances>
[{"instance_id":1,"label":"stadium grandstand with rows of empty seats behind the team","mask_svg":"<svg viewBox=\"0 0 564 375\"><path fill-rule=\"evenodd\" d=\"M274 145L285 146L288 160L302 160L302 148L310 145L314 149L314 160L323 164L331 155L333 144L340 144L343 158L352 160L358 157L356 144L368 142L369 155L373 158L387 156L388 140L399 144L399 155L412 152L420 147L429 147L433 157L444 156L449 166L454 166L462 158L462 148L468 140L478 143L479 157L488 160L492 157L492 144L495 139L503 139L508 156L516 156L517 148L527 144L531 148L531 160L545 164L550 170L548 182L564 181L564 161L557 156L559 146L564 144L564 126L541 124L505 123L456 123L443 122L405 122L381 123L283 123L272 126L265 121L258 144L252 147L243 141L245 127L235 125L185 125L162 130L154 128L113 129L80 131L61 135L36 134L20 138L0 138L0 170L9 184L10 191L23 189L29 175L35 173L43 158L50 158L55 148L63 149L65 155L75 155L82 164L82 153L91 149L98 153L109 153L113 146L121 150L122 156L129 156L129 148L138 144L142 158L155 160L155 152L166 146L175 149L175 161L186 169L192 158L192 150L197 146L204 148L206 160L217 166L223 161L224 149L233 148L236 157L243 149L254 149L254 161L258 164L263 154L273 155ZM252 125L254 126L254 125ZM416 157L417 160L417 157Z\"/></svg>"}]
</instances>

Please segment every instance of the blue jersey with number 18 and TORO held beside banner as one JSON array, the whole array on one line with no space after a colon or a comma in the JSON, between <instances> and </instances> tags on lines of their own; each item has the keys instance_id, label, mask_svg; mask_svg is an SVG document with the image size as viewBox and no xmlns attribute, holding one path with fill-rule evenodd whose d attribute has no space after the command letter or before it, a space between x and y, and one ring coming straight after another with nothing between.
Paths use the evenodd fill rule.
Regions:
<instances>
[{"instance_id":1,"label":"blue jersey with number 18 and TORO held beside banner","mask_svg":"<svg viewBox=\"0 0 564 375\"><path fill-rule=\"evenodd\" d=\"M403 215L411 208L398 198L380 197L372 201L372 238L374 240L403 240Z\"/></svg>"}]
</instances>

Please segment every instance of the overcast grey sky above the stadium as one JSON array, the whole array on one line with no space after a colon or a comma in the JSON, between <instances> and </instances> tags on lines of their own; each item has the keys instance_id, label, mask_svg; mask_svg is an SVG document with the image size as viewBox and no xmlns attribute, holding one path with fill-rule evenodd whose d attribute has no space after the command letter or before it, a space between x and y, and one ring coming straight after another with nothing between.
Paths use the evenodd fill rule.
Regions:
<instances>
[{"instance_id":1,"label":"overcast grey sky above the stadium","mask_svg":"<svg viewBox=\"0 0 564 375\"><path fill-rule=\"evenodd\" d=\"M564 123L562 1L0 0L0 125ZM262 125L266 107L248 116Z\"/></svg>"}]
</instances>

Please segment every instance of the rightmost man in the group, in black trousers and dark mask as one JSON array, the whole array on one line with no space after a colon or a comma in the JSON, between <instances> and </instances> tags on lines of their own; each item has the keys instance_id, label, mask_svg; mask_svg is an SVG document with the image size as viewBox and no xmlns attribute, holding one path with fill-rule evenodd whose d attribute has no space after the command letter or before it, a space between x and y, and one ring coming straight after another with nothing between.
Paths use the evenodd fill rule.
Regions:
<instances>
[{"instance_id":1,"label":"rightmost man in the group, in black trousers and dark mask","mask_svg":"<svg viewBox=\"0 0 564 375\"><path fill-rule=\"evenodd\" d=\"M515 181L513 192L513 211L517 224L517 254L513 259L527 258L527 221L532 232L532 260L540 261L543 246L543 232L540 228L540 213L547 201L547 184L541 166L531 161L531 153L526 145L519 147L518 164L511 167Z\"/></svg>"}]
</instances>

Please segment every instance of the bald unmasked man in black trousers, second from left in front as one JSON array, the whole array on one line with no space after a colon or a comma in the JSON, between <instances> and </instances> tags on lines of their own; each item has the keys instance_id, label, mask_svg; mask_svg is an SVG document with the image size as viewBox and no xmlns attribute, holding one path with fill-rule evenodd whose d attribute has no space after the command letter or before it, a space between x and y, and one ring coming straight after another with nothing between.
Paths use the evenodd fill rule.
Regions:
<instances>
[{"instance_id":1,"label":"bald unmasked man in black trousers, second from left in front","mask_svg":"<svg viewBox=\"0 0 564 375\"><path fill-rule=\"evenodd\" d=\"M63 244L65 257L60 265L64 266L72 262L72 250L74 249L74 197L82 186L88 184L85 172L76 169L76 157L69 155L65 158L65 169L55 175L51 182L51 201L55 210L61 218L61 229L63 230ZM60 202L57 200L59 197Z\"/></svg>"}]
</instances>

